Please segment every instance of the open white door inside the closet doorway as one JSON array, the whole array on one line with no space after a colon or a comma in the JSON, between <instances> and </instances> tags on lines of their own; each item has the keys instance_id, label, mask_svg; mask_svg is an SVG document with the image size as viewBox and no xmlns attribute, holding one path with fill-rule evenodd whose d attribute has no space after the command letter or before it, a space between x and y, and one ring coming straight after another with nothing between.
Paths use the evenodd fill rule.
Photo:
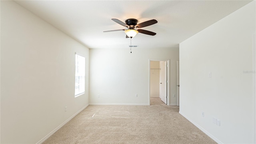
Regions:
<instances>
[{"instance_id":1,"label":"open white door inside the closet doorway","mask_svg":"<svg viewBox=\"0 0 256 144\"><path fill-rule=\"evenodd\" d=\"M167 104L167 62L160 61L160 89L159 96Z\"/></svg>"}]
</instances>

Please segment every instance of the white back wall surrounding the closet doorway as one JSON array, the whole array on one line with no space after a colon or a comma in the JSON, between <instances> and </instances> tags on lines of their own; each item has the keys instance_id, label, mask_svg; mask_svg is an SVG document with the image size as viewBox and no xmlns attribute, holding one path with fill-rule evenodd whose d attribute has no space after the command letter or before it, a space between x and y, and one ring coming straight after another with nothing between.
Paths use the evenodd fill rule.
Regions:
<instances>
[{"instance_id":1,"label":"white back wall surrounding the closet doorway","mask_svg":"<svg viewBox=\"0 0 256 144\"><path fill-rule=\"evenodd\" d=\"M90 49L89 103L148 105L149 59L170 59L170 95L176 94L178 48Z\"/></svg>"}]
</instances>

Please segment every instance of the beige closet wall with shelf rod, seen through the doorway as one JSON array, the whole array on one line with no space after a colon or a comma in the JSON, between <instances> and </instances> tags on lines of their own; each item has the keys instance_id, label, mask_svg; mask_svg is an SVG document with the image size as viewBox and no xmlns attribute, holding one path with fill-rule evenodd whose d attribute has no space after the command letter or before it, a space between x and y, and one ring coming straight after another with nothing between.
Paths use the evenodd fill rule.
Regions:
<instances>
[{"instance_id":1,"label":"beige closet wall with shelf rod, seen through the doorway","mask_svg":"<svg viewBox=\"0 0 256 144\"><path fill-rule=\"evenodd\" d=\"M150 97L159 97L159 61L150 61Z\"/></svg>"}]
</instances>

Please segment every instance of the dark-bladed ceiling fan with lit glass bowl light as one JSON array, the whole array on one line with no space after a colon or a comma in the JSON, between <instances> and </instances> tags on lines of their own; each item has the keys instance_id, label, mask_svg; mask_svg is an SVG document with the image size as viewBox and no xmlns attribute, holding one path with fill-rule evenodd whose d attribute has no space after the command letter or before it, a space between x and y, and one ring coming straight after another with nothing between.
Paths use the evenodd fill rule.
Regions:
<instances>
[{"instance_id":1,"label":"dark-bladed ceiling fan with lit glass bowl light","mask_svg":"<svg viewBox=\"0 0 256 144\"><path fill-rule=\"evenodd\" d=\"M122 29L126 33L126 38L133 38L134 36L136 36L136 34L138 34L138 32L142 33L142 34L148 34L151 36L156 35L156 33L154 33L154 32L150 32L148 30L137 29L137 28L143 28L146 26L150 26L152 24L156 24L157 20L148 20L148 21L142 22L140 24L137 24L138 20L136 20L134 18L127 19L125 21L125 23L118 19L115 19L115 18L112 18L111 20L128 28L127 30ZM108 31L104 31L104 32L115 32L115 31L121 31L121 30L108 30Z\"/></svg>"}]
</instances>

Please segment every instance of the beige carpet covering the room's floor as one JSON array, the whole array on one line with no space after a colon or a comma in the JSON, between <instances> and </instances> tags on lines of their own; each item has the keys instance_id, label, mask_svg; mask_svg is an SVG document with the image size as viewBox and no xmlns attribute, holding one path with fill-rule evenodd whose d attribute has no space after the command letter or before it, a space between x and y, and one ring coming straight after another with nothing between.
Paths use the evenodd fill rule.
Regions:
<instances>
[{"instance_id":1,"label":"beige carpet covering the room's floor","mask_svg":"<svg viewBox=\"0 0 256 144\"><path fill-rule=\"evenodd\" d=\"M178 106L88 106L43 144L216 144Z\"/></svg>"}]
</instances>

